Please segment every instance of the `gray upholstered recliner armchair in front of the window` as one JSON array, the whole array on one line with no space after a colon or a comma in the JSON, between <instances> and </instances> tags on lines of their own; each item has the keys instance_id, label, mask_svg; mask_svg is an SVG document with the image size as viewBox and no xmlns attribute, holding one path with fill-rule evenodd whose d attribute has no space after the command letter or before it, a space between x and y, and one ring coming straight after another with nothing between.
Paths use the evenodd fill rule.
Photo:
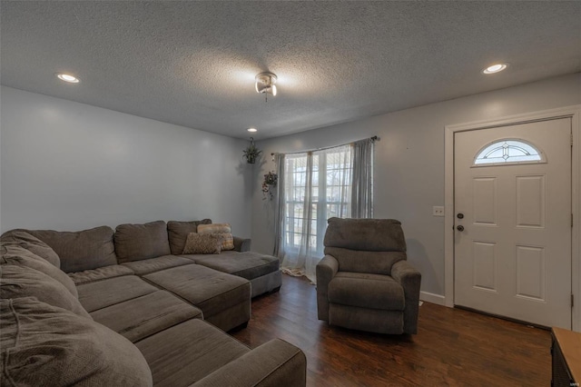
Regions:
<instances>
[{"instance_id":1,"label":"gray upholstered recliner armchair in front of the window","mask_svg":"<svg viewBox=\"0 0 581 387\"><path fill-rule=\"evenodd\" d=\"M421 274L407 261L401 223L330 218L317 264L319 320L377 333L417 333Z\"/></svg>"}]
</instances>

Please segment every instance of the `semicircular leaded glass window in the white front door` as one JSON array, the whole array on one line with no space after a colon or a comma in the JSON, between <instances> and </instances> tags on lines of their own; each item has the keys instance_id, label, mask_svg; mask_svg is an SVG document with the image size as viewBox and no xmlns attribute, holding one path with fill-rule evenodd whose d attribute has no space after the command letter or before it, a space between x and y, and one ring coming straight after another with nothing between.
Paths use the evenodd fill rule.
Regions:
<instances>
[{"instance_id":1,"label":"semicircular leaded glass window in the white front door","mask_svg":"<svg viewBox=\"0 0 581 387\"><path fill-rule=\"evenodd\" d=\"M487 164L547 163L545 154L537 146L524 140L505 139L487 144L474 157L474 166Z\"/></svg>"}]
</instances>

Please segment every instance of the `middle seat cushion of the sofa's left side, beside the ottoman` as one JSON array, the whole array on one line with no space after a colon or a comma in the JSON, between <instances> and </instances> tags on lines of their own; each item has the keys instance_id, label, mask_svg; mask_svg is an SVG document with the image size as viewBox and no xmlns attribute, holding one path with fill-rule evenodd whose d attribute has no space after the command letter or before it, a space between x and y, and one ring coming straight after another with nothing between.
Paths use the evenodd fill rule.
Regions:
<instances>
[{"instance_id":1,"label":"middle seat cushion of the sofa's left side, beside the ottoman","mask_svg":"<svg viewBox=\"0 0 581 387\"><path fill-rule=\"evenodd\" d=\"M131 342L138 342L178 323L203 318L200 309L165 291L116 303L94 311L91 316L95 322L122 334Z\"/></svg>"}]
</instances>

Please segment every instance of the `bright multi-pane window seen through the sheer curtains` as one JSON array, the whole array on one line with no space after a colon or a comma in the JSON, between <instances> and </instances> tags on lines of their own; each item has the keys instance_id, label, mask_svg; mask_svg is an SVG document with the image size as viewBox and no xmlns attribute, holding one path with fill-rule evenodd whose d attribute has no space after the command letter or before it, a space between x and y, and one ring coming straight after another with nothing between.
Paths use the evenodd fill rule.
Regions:
<instances>
[{"instance_id":1,"label":"bright multi-pane window seen through the sheer curtains","mask_svg":"<svg viewBox=\"0 0 581 387\"><path fill-rule=\"evenodd\" d=\"M298 253L323 256L323 237L330 217L349 217L351 198L351 146L285 157L284 244ZM308 241L303 242L303 238ZM306 243L305 243L306 242Z\"/></svg>"}]
</instances>

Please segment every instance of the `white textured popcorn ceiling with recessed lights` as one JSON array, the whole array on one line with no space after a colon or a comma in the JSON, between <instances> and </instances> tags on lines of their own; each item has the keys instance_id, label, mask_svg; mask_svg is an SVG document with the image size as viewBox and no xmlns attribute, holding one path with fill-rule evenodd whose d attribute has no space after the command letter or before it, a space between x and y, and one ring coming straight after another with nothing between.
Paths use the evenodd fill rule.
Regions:
<instances>
[{"instance_id":1,"label":"white textured popcorn ceiling with recessed lights","mask_svg":"<svg viewBox=\"0 0 581 387\"><path fill-rule=\"evenodd\" d=\"M578 1L2 1L0 12L2 84L241 138L581 71ZM480 74L497 61L510 67ZM279 76L268 104L254 91L263 71Z\"/></svg>"}]
</instances>

